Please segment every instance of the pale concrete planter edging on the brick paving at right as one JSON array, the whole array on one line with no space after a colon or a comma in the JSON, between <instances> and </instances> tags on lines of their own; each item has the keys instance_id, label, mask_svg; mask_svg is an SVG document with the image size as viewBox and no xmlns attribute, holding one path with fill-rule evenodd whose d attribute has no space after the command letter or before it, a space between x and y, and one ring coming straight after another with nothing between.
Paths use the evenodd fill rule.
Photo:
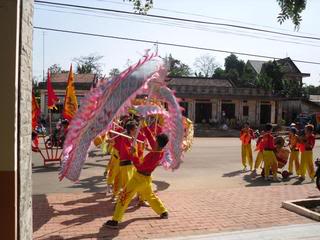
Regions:
<instances>
[{"instance_id":1,"label":"pale concrete planter edging on the brick paving at right","mask_svg":"<svg viewBox=\"0 0 320 240\"><path fill-rule=\"evenodd\" d=\"M316 213L304 207L305 205L310 205L316 202L320 203L320 198L290 200L282 202L282 207L299 215L320 221L320 213Z\"/></svg>"}]
</instances>

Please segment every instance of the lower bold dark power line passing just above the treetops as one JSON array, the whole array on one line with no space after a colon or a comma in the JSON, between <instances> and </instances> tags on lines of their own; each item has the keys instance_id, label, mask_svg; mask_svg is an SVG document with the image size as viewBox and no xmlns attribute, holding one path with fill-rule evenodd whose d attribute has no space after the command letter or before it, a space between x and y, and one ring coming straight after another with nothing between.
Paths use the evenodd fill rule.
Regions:
<instances>
[{"instance_id":1,"label":"lower bold dark power line passing just above the treetops","mask_svg":"<svg viewBox=\"0 0 320 240\"><path fill-rule=\"evenodd\" d=\"M159 42L159 41L138 39L138 38L128 38L128 37L119 37L119 36L113 36L113 35L104 35L104 34L80 32L80 31L71 31L71 30L57 29L57 28L47 28L47 27L34 26L34 29L45 30L45 31L53 31L53 32L61 32L61 33L69 33L69 34L77 34L77 35L84 35L84 36L92 36L92 37L110 38L110 39L125 40L125 41L142 42L142 43L151 43L151 44L155 44L156 43L158 45L164 45L164 46L189 48L189 49L205 50L205 51L212 51L212 52L234 53L234 54L243 55L243 56L249 56L249 57L259 57L259 58L268 58L268 59L281 59L280 57L271 57L271 56L252 54L252 53L227 51L227 50L214 49L214 48L197 47L197 46L192 46L192 45L183 45L183 44L176 44L176 43L168 43L168 42ZM305 61L305 60L298 60L298 59L292 59L292 61L299 62L299 63L308 63L308 64L320 65L320 62Z\"/></svg>"}]
</instances>

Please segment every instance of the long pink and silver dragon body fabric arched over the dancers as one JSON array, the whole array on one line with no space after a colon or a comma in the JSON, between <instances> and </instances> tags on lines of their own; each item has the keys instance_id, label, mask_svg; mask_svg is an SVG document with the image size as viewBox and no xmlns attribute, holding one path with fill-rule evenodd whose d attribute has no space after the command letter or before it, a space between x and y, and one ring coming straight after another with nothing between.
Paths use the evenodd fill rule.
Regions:
<instances>
[{"instance_id":1,"label":"long pink and silver dragon body fabric arched over the dancers","mask_svg":"<svg viewBox=\"0 0 320 240\"><path fill-rule=\"evenodd\" d=\"M145 56L119 76L100 83L86 95L72 119L63 148L60 180L79 180L92 140L112 127L114 118L125 114L139 94L156 96L167 102L164 132L169 143L162 164L167 169L179 167L182 159L183 124L181 109L173 92L166 87L163 60ZM157 113L157 110L151 111Z\"/></svg>"}]
</instances>

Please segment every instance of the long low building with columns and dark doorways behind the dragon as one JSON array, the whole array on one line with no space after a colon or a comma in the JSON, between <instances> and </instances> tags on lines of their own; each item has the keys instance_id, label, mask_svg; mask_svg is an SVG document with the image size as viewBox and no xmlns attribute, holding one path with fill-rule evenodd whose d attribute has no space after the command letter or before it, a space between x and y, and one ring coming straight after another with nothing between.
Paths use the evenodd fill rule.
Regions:
<instances>
[{"instance_id":1,"label":"long low building with columns and dark doorways behind the dragon","mask_svg":"<svg viewBox=\"0 0 320 240\"><path fill-rule=\"evenodd\" d=\"M181 98L184 115L195 123L225 118L260 126L278 123L282 117L282 99L271 91L238 88L227 79L174 77L168 87Z\"/></svg>"}]
</instances>

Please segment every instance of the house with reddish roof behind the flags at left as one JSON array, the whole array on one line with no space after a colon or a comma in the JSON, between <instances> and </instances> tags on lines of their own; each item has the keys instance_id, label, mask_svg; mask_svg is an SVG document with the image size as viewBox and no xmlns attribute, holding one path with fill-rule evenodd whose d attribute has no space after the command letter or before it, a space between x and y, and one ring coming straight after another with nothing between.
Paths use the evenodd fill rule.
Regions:
<instances>
[{"instance_id":1,"label":"house with reddish roof behind the flags at left","mask_svg":"<svg viewBox=\"0 0 320 240\"><path fill-rule=\"evenodd\" d=\"M57 104L57 110L53 110L53 120L57 120L63 110L64 97L67 88L69 73L57 73L51 76L52 87L59 98L59 103ZM81 100L84 95L91 89L93 84L95 84L96 76L95 74L74 74L74 85L76 89L76 95L78 99L79 106L81 105ZM47 94L47 83L39 83L40 90L40 108L41 112L45 117L48 116L48 94Z\"/></svg>"}]
</instances>

